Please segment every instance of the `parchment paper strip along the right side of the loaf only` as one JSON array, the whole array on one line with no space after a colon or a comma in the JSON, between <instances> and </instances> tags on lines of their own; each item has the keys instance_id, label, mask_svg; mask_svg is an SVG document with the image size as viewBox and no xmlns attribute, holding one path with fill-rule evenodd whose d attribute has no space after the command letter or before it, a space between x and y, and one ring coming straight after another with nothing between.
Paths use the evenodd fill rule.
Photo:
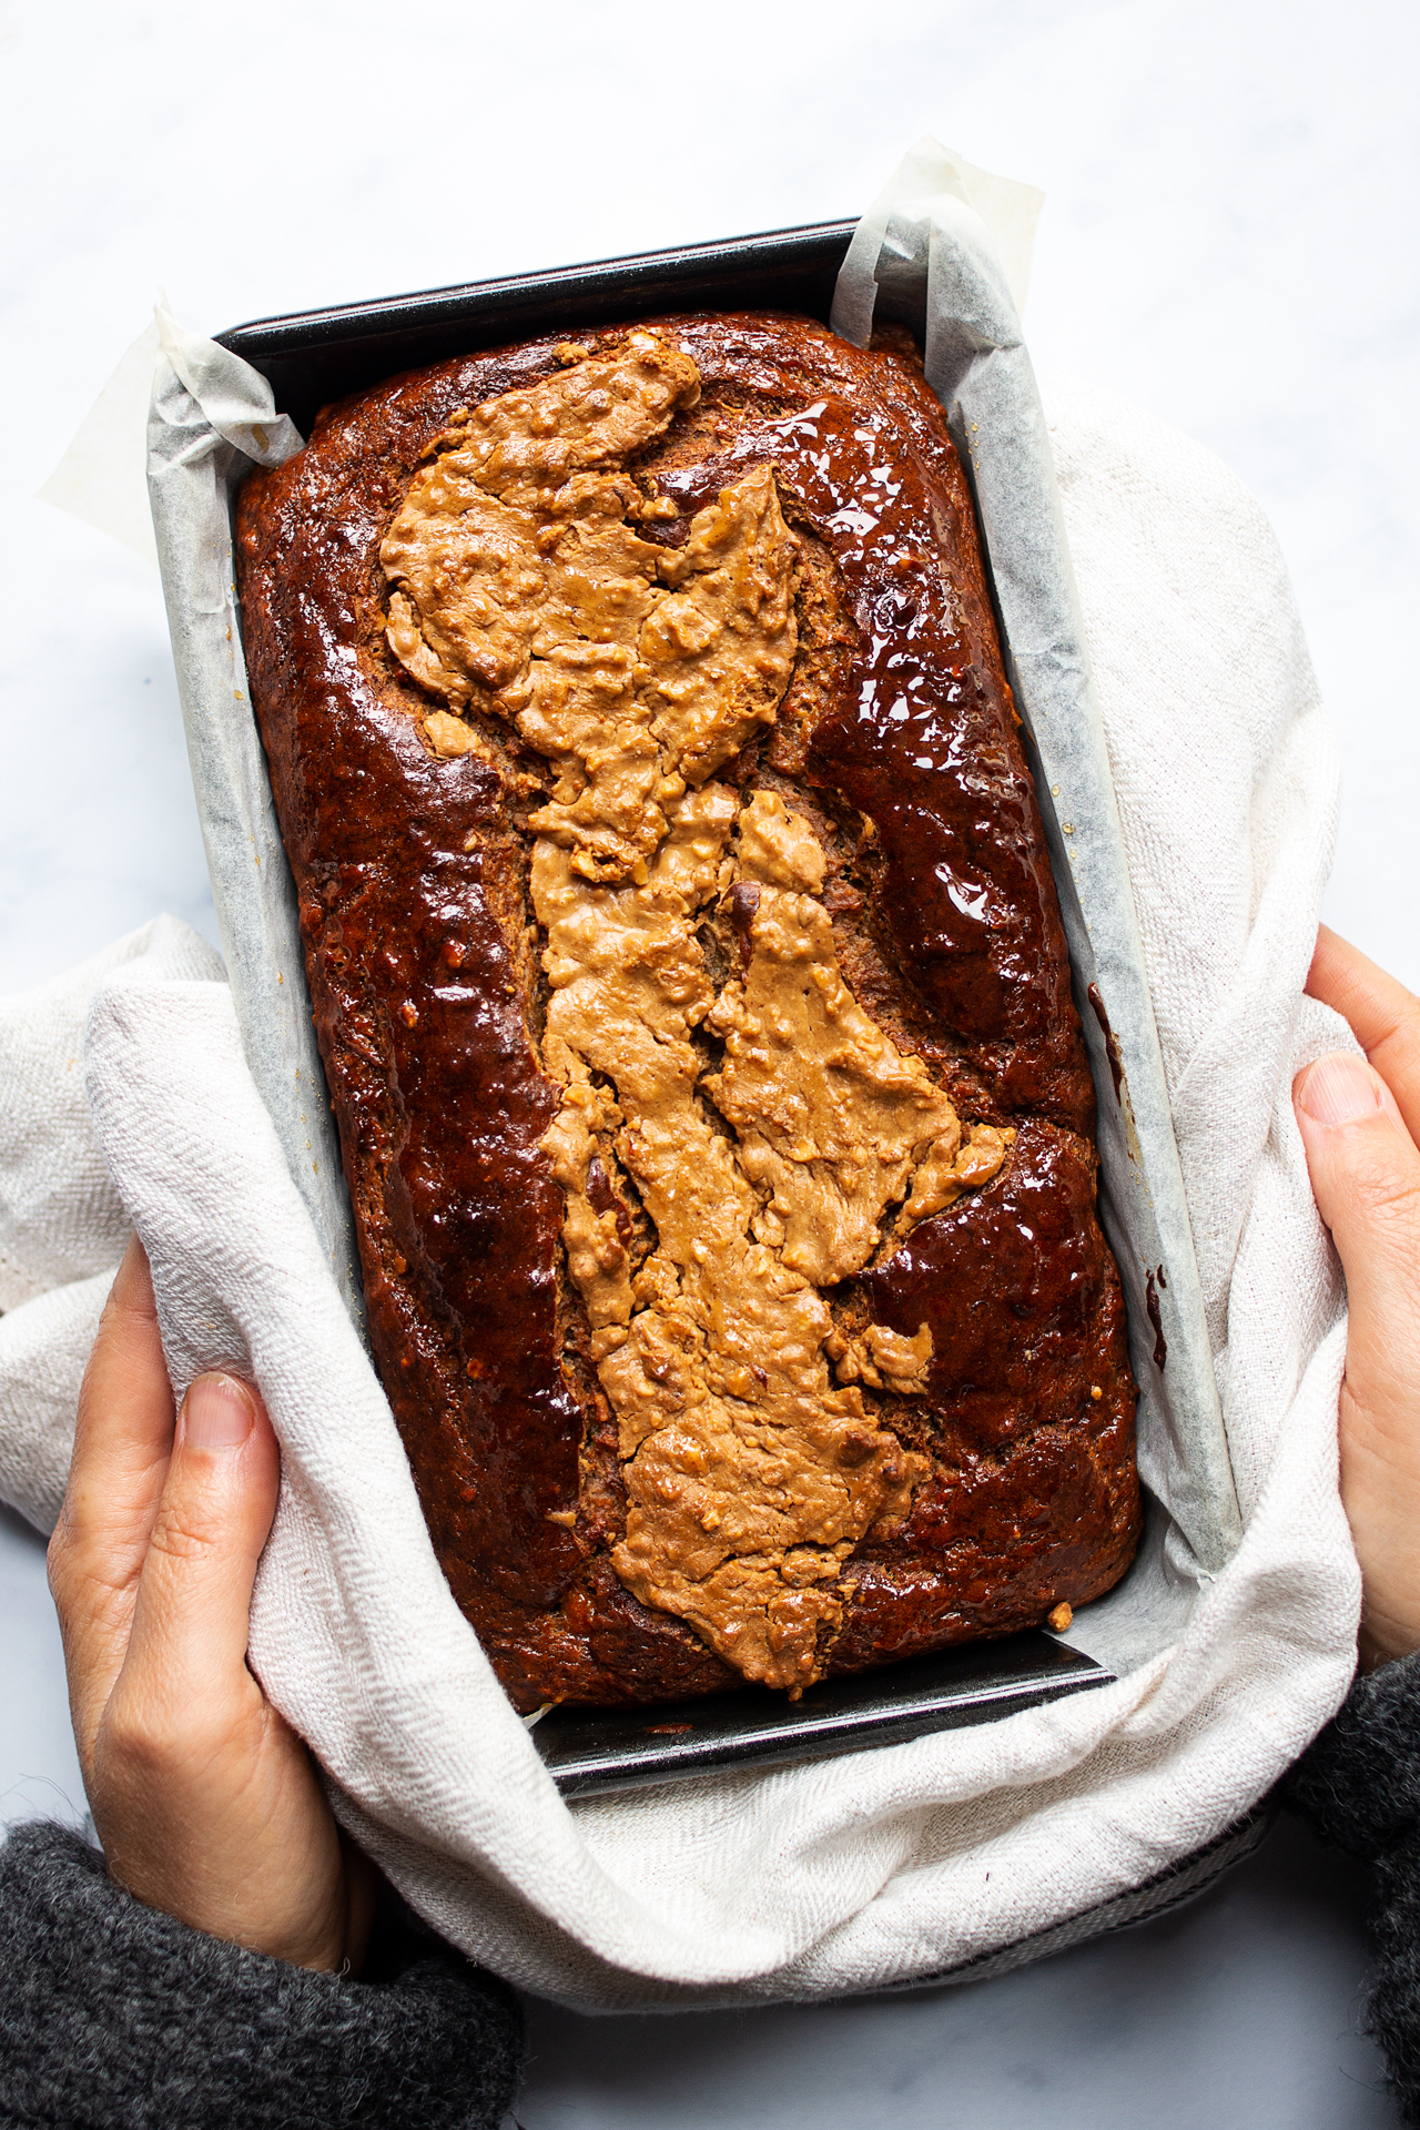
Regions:
<instances>
[{"instance_id":1,"label":"parchment paper strip along the right side of the loaf only","mask_svg":"<svg viewBox=\"0 0 1420 2130\"><path fill-rule=\"evenodd\" d=\"M1139 1468L1173 1521L1160 1566L1192 1580L1228 1561L1241 1517L1139 920L1035 373L971 179L935 141L903 160L843 262L835 332L862 347L875 313L924 337L975 490L1099 1097L1101 1218L1128 1295ZM1124 1612L1143 1580L1137 1570L1069 1640L1096 1653L1094 1619L1109 1604Z\"/></svg>"}]
</instances>

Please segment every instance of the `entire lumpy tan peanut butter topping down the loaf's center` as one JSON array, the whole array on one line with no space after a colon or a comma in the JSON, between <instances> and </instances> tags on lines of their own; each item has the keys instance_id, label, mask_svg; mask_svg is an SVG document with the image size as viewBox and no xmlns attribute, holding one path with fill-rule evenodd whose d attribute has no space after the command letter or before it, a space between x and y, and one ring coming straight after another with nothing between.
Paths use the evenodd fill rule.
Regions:
<instances>
[{"instance_id":1,"label":"entire lumpy tan peanut butter topping down the loaf's center","mask_svg":"<svg viewBox=\"0 0 1420 2130\"><path fill-rule=\"evenodd\" d=\"M926 1470L862 1387L920 1389L928 1327L843 1338L824 1291L992 1176L1009 1133L964 1133L854 999L811 824L713 780L790 684L794 537L771 464L681 550L632 528L654 503L624 460L696 398L694 362L634 332L488 400L411 484L381 562L390 648L447 705L430 748L473 746L458 711L477 703L556 771L532 818L543 1063L564 1088L543 1146L617 1416L613 1566L747 1678L798 1691L847 1557ZM724 918L741 969L717 988L698 931Z\"/></svg>"}]
</instances>

